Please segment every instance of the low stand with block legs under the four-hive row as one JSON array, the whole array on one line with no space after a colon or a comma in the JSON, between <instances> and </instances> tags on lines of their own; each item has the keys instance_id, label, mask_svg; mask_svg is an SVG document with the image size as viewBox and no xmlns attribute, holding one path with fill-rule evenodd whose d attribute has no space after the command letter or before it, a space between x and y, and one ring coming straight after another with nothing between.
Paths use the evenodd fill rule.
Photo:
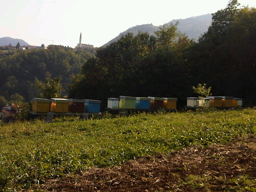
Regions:
<instances>
[{"instance_id":1,"label":"low stand with block legs under the four-hive row","mask_svg":"<svg viewBox=\"0 0 256 192\"><path fill-rule=\"evenodd\" d=\"M52 119L54 115L80 115L81 119L89 119L89 116L92 115L102 115L101 113L53 113L53 112L48 112L48 113L37 113L37 112L30 112L32 115L44 115L44 119L46 123L52 123Z\"/></svg>"}]
</instances>

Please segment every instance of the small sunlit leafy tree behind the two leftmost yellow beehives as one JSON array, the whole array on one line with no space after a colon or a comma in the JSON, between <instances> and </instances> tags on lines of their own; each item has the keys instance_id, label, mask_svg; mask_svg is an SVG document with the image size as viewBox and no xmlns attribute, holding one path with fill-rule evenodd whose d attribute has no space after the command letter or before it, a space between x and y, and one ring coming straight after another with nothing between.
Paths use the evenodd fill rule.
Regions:
<instances>
[{"instance_id":1,"label":"small sunlit leafy tree behind the two leftmost yellow beehives","mask_svg":"<svg viewBox=\"0 0 256 192\"><path fill-rule=\"evenodd\" d=\"M51 98L62 98L61 93L64 91L62 85L60 84L62 78L61 76L56 77L50 81L46 78L45 83L38 81L38 87L42 92L39 98L51 99Z\"/></svg>"}]
</instances>

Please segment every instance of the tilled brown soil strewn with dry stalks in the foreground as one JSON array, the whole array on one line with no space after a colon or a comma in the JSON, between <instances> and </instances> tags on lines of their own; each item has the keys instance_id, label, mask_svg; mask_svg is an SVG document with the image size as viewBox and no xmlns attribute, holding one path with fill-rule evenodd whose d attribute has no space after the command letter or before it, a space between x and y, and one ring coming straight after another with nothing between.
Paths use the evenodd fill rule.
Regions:
<instances>
[{"instance_id":1,"label":"tilled brown soil strewn with dry stalks in the foreground","mask_svg":"<svg viewBox=\"0 0 256 192\"><path fill-rule=\"evenodd\" d=\"M44 191L256 191L256 137L48 180Z\"/></svg>"}]
</instances>

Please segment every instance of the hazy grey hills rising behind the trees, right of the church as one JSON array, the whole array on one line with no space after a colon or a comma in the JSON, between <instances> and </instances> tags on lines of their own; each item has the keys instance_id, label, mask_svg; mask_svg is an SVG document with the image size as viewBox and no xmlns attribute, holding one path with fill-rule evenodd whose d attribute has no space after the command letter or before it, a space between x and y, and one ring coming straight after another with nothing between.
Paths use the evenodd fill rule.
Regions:
<instances>
[{"instance_id":1,"label":"hazy grey hills rising behind the trees, right of the church","mask_svg":"<svg viewBox=\"0 0 256 192\"><path fill-rule=\"evenodd\" d=\"M212 15L208 13L208 14L200 15L196 17L189 17L187 19L171 20L167 24L169 25L171 23L175 24L177 21L179 21L178 29L181 31L181 33L186 33L186 35L190 39L194 39L195 41L197 41L200 35L206 32L208 30L208 27L211 25ZM126 35L128 32L132 32L133 35L137 35L138 31L143 31L143 32L148 31L149 35L154 35L154 31L157 31L157 30L158 30L158 27L152 24L137 25L135 27L131 27L126 31L120 33L114 39L104 44L103 47L111 44L112 42L117 41L122 35Z\"/></svg>"}]
</instances>

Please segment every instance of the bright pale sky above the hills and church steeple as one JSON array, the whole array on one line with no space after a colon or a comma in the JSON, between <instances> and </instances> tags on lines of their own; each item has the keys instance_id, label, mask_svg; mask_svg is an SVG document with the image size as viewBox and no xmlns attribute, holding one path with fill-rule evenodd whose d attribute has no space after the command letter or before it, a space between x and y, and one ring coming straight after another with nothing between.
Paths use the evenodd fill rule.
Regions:
<instances>
[{"instance_id":1,"label":"bright pale sky above the hills and church steeple","mask_svg":"<svg viewBox=\"0 0 256 192\"><path fill-rule=\"evenodd\" d=\"M238 0L256 7L255 0ZM23 39L30 45L100 47L130 27L214 13L228 0L0 0L0 38Z\"/></svg>"}]
</instances>

